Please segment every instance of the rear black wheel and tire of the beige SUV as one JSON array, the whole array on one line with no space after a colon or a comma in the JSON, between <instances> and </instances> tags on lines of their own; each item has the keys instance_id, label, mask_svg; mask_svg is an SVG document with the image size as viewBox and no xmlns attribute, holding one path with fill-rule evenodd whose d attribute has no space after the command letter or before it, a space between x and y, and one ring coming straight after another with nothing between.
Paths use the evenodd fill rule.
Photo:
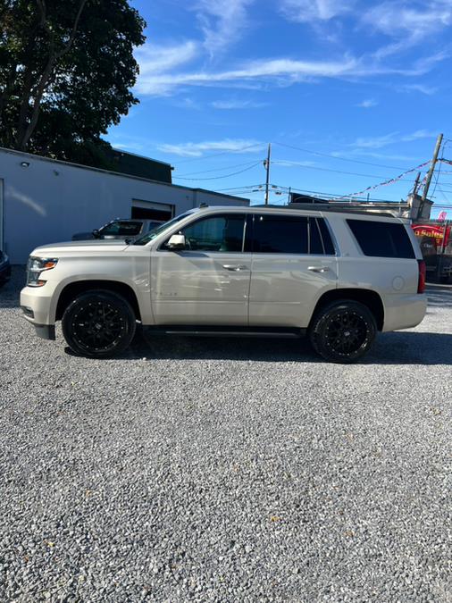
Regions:
<instances>
[{"instance_id":1,"label":"rear black wheel and tire of the beige SUV","mask_svg":"<svg viewBox=\"0 0 452 603\"><path fill-rule=\"evenodd\" d=\"M367 354L376 334L372 312L351 299L323 306L309 328L309 338L317 354L325 360L346 364Z\"/></svg>"}]
</instances>

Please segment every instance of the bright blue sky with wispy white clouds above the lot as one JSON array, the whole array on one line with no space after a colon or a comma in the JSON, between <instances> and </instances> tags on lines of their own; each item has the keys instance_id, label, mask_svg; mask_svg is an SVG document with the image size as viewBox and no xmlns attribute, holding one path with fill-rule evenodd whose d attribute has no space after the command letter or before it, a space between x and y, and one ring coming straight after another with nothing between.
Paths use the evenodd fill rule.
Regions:
<instances>
[{"instance_id":1,"label":"bright blue sky with wispy white clouds above the lot","mask_svg":"<svg viewBox=\"0 0 452 603\"><path fill-rule=\"evenodd\" d=\"M132 4L147 22L140 104L108 139L172 163L177 184L262 203L269 142L272 203L394 178L431 158L439 132L452 159L452 0ZM406 197L415 173L371 197ZM434 197L452 203L451 165Z\"/></svg>"}]
</instances>

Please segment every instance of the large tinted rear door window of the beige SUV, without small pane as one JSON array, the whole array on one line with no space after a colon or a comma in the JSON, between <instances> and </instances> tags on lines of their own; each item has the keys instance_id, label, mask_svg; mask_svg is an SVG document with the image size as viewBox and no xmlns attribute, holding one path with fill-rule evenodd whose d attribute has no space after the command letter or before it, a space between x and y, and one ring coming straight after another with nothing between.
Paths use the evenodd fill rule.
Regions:
<instances>
[{"instance_id":1,"label":"large tinted rear door window of the beige SUV, without small pane","mask_svg":"<svg viewBox=\"0 0 452 603\"><path fill-rule=\"evenodd\" d=\"M253 250L261 254L307 254L307 218L255 215Z\"/></svg>"}]
</instances>

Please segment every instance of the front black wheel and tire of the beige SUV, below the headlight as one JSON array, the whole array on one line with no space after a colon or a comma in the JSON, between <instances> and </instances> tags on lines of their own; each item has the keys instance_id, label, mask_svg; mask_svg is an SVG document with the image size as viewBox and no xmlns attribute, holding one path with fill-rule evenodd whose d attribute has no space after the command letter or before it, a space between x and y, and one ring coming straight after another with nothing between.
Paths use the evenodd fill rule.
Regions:
<instances>
[{"instance_id":1,"label":"front black wheel and tire of the beige SUV, below the headlight","mask_svg":"<svg viewBox=\"0 0 452 603\"><path fill-rule=\"evenodd\" d=\"M129 302L96 289L71 301L62 319L63 336L78 356L108 358L129 348L137 323Z\"/></svg>"}]
</instances>

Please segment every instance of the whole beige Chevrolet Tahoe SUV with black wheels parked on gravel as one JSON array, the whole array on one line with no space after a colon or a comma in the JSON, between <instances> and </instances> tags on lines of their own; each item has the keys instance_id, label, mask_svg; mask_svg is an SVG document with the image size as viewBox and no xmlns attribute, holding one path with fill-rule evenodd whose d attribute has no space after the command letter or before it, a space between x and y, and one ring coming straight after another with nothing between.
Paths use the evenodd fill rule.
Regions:
<instances>
[{"instance_id":1,"label":"whole beige Chevrolet Tahoe SUV with black wheels parked on gravel","mask_svg":"<svg viewBox=\"0 0 452 603\"><path fill-rule=\"evenodd\" d=\"M414 234L388 215L291 206L202 207L136 240L46 245L29 257L21 307L38 335L77 354L130 345L137 322L197 335L309 336L352 362L377 331L426 311Z\"/></svg>"}]
</instances>

